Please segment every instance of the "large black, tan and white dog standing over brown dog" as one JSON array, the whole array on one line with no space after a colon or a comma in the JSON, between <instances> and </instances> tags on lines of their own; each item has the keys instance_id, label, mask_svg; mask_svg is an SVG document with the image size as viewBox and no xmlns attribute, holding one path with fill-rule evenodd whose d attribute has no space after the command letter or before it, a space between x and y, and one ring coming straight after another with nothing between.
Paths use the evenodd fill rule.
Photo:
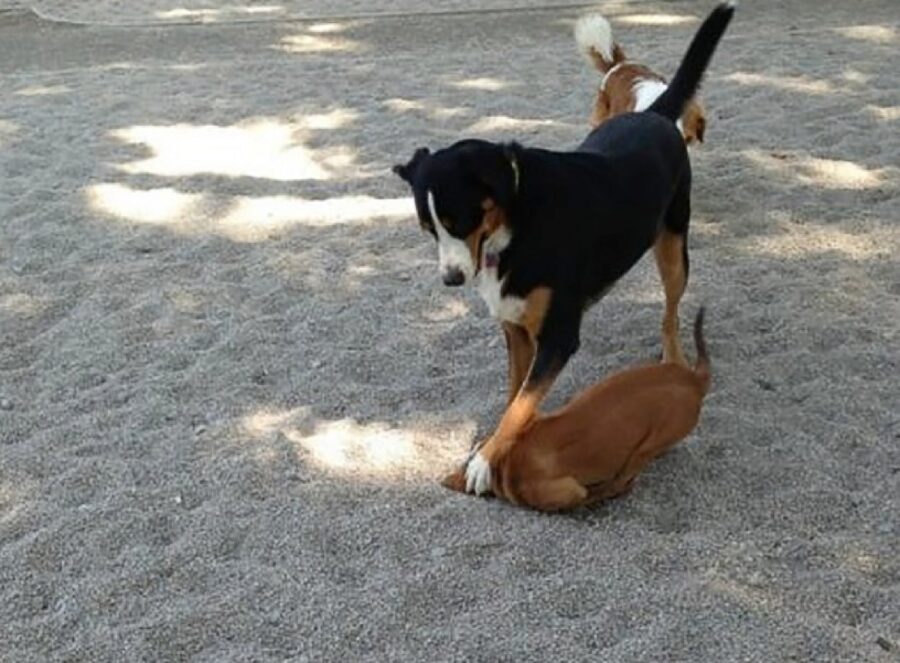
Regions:
<instances>
[{"instance_id":1,"label":"large black, tan and white dog standing over brown dog","mask_svg":"<svg viewBox=\"0 0 900 663\"><path fill-rule=\"evenodd\" d=\"M438 241L444 283L474 281L506 336L509 401L468 462L468 490L489 489L490 466L502 465L578 349L583 312L651 246L665 289L663 359L685 364L678 304L688 276L691 166L675 121L733 14L731 3L712 11L647 111L605 122L574 152L464 140L434 154L421 148L395 166Z\"/></svg>"}]
</instances>

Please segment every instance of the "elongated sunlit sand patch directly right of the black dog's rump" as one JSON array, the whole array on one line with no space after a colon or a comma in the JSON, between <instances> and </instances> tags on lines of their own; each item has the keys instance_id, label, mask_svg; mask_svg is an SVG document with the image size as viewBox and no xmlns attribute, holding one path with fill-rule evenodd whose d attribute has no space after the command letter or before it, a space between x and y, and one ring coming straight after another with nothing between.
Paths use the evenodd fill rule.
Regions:
<instances>
[{"instance_id":1,"label":"elongated sunlit sand patch directly right of the black dog's rump","mask_svg":"<svg viewBox=\"0 0 900 663\"><path fill-rule=\"evenodd\" d=\"M803 184L823 189L871 189L896 177L896 168L870 169L853 161L819 159L792 152L766 152L751 149L744 157L765 170Z\"/></svg>"}]
</instances>

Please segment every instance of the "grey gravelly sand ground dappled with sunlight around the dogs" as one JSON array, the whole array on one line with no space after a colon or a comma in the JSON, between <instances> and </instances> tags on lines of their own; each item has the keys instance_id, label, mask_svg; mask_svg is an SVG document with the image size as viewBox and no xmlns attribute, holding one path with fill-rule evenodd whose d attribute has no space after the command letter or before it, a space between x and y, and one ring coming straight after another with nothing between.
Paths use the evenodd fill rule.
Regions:
<instances>
[{"instance_id":1,"label":"grey gravelly sand ground dappled with sunlight around the dogs","mask_svg":"<svg viewBox=\"0 0 900 663\"><path fill-rule=\"evenodd\" d=\"M671 72L709 5L601 6ZM0 660L898 660L894 0L747 2L716 56L696 434L568 516L436 483L505 356L388 169L574 145L576 14L0 13ZM654 356L660 315L647 261L552 401Z\"/></svg>"}]
</instances>

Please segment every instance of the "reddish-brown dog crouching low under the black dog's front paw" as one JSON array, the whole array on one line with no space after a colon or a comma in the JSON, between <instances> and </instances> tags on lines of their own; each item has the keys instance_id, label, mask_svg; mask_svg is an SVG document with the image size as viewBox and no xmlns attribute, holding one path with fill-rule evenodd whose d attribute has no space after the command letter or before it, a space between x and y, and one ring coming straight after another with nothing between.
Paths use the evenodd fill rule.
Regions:
<instances>
[{"instance_id":1,"label":"reddish-brown dog crouching low under the black dog's front paw","mask_svg":"<svg viewBox=\"0 0 900 663\"><path fill-rule=\"evenodd\" d=\"M697 362L617 373L560 410L538 415L491 466L498 497L541 511L571 509L626 492L654 458L694 430L709 387L703 309L694 322ZM477 458L474 452L468 462ZM468 463L467 463L468 464ZM466 492L466 465L443 485Z\"/></svg>"}]
</instances>

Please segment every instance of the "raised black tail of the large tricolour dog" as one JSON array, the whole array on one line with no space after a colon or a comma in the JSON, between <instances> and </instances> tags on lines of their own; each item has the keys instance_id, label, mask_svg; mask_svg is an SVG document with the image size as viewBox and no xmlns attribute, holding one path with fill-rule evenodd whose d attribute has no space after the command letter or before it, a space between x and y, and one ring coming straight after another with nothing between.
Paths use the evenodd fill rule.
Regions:
<instances>
[{"instance_id":1,"label":"raised black tail of the large tricolour dog","mask_svg":"<svg viewBox=\"0 0 900 663\"><path fill-rule=\"evenodd\" d=\"M688 46L687 53L669 87L647 110L659 113L673 122L681 117L685 104L700 87L703 72L706 71L712 54L734 15L735 5L735 2L723 2L706 17L694 35L691 45Z\"/></svg>"}]
</instances>

